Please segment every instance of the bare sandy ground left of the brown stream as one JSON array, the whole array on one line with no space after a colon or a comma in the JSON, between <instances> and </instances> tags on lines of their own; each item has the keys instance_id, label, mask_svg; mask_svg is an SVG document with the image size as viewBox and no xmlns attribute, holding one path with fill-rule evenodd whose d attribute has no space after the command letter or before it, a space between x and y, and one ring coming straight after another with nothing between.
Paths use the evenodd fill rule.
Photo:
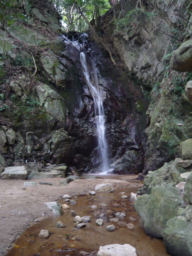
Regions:
<instances>
[{"instance_id":1,"label":"bare sandy ground left of the brown stream","mask_svg":"<svg viewBox=\"0 0 192 256\"><path fill-rule=\"evenodd\" d=\"M126 176L135 179L136 176ZM62 178L34 179L36 186L23 186L25 180L0 180L0 255L6 255L20 234L29 226L52 215L44 204L58 200L64 194L71 196L86 194L94 190L96 184L112 183L114 189L141 187L141 183L115 179L77 179L67 186L59 186ZM51 182L54 185L40 185Z\"/></svg>"}]
</instances>

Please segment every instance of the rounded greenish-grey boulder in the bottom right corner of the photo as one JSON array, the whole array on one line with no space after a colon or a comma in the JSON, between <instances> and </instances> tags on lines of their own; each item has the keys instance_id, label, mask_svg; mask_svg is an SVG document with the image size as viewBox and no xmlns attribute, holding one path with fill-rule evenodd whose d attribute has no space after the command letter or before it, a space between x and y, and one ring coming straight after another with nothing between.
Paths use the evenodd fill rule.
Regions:
<instances>
[{"instance_id":1,"label":"rounded greenish-grey boulder in the bottom right corner of the photo","mask_svg":"<svg viewBox=\"0 0 192 256\"><path fill-rule=\"evenodd\" d=\"M167 252L175 256L192 255L192 221L175 216L167 221L163 240Z\"/></svg>"}]
</instances>

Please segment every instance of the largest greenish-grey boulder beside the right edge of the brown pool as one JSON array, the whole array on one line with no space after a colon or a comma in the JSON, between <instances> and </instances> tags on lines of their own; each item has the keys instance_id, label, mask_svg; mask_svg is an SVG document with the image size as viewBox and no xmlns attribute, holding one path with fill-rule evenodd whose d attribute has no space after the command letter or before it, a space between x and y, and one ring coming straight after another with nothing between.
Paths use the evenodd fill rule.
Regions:
<instances>
[{"instance_id":1,"label":"largest greenish-grey boulder beside the right edge of the brown pool","mask_svg":"<svg viewBox=\"0 0 192 256\"><path fill-rule=\"evenodd\" d=\"M135 202L135 209L144 225L145 232L162 237L166 223L178 215L184 205L179 189L169 184L155 186L151 195L142 195Z\"/></svg>"}]
</instances>

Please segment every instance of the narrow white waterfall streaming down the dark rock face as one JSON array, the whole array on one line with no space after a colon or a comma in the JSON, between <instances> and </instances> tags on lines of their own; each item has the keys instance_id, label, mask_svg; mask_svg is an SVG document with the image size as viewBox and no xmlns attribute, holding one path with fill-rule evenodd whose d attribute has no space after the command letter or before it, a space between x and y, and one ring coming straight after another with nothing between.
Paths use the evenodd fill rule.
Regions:
<instances>
[{"instance_id":1,"label":"narrow white waterfall streaming down the dark rock face","mask_svg":"<svg viewBox=\"0 0 192 256\"><path fill-rule=\"evenodd\" d=\"M99 92L97 68L95 68L95 65L92 63L92 70L90 71L90 69L87 67L86 56L83 52L80 53L80 60L85 80L94 100L95 119L97 124L97 138L102 158L102 173L106 174L109 171L108 146L105 138L105 115L102 97Z\"/></svg>"}]
</instances>

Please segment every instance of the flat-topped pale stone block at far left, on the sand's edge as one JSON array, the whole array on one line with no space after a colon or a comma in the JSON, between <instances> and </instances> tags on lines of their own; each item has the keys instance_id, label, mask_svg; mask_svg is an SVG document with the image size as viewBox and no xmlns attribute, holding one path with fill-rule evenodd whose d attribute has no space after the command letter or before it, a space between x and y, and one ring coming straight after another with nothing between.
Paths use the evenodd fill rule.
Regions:
<instances>
[{"instance_id":1,"label":"flat-topped pale stone block at far left, on the sand's edge","mask_svg":"<svg viewBox=\"0 0 192 256\"><path fill-rule=\"evenodd\" d=\"M27 179L25 166L6 167L0 174L2 179Z\"/></svg>"}]
</instances>

